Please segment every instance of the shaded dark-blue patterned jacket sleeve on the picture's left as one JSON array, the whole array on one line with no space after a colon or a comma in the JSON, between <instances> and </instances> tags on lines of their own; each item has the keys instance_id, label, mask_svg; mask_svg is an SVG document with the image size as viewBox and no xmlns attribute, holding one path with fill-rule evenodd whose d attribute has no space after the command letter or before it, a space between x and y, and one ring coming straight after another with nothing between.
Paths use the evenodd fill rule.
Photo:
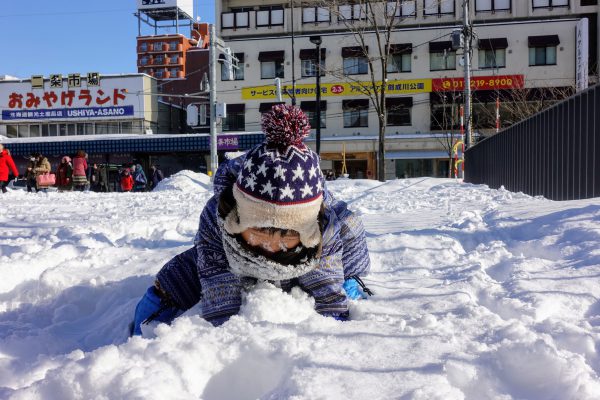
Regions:
<instances>
[{"instance_id":1,"label":"shaded dark-blue patterned jacket sleeve on the picture's left","mask_svg":"<svg viewBox=\"0 0 600 400\"><path fill-rule=\"evenodd\" d=\"M213 325L220 325L239 312L242 305L242 284L240 278L228 268L217 222L216 196L202 212L195 244L198 252L198 276L202 286L202 316Z\"/></svg>"}]
</instances>

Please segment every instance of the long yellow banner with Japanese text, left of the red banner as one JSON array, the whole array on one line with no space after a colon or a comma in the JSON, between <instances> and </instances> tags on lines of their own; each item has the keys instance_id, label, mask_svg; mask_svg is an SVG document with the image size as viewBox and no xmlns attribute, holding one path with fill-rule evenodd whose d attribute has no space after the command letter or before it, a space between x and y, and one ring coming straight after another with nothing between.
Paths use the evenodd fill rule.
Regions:
<instances>
[{"instance_id":1,"label":"long yellow banner with Japanese text, left of the red banner","mask_svg":"<svg viewBox=\"0 0 600 400\"><path fill-rule=\"evenodd\" d=\"M378 84L381 84L378 82ZM364 95L365 88L371 86L371 82L336 82L322 83L321 96L355 96ZM291 85L286 85L282 88L285 96L291 96L293 88ZM388 81L386 92L389 95L411 94L411 93L428 93L431 92L431 79L410 79L410 80L393 80ZM315 97L316 85L305 84L296 85L296 97ZM276 89L272 86L252 86L242 88L242 99L244 100L260 100L260 99L275 99Z\"/></svg>"}]
</instances>

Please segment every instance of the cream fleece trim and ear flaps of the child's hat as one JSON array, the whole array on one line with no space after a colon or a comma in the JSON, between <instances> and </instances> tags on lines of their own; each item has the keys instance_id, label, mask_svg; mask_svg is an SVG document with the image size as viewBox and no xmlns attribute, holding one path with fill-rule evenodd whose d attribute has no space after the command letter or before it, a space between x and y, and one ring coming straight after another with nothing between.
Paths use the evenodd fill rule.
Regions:
<instances>
[{"instance_id":1,"label":"cream fleece trim and ear flaps of the child's hat","mask_svg":"<svg viewBox=\"0 0 600 400\"><path fill-rule=\"evenodd\" d=\"M316 247L321 243L318 218L322 195L306 203L274 204L248 196L233 185L233 197L237 210L232 210L223 224L230 234L242 233L248 228L272 227L295 230L300 233L300 241L306 247Z\"/></svg>"}]
</instances>

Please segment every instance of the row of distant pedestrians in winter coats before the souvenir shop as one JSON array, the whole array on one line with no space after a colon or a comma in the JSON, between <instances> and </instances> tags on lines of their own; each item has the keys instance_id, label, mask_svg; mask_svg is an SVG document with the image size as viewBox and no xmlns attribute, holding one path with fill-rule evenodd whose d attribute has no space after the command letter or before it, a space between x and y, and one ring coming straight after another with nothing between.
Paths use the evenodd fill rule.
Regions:
<instances>
[{"instance_id":1,"label":"row of distant pedestrians in winter coats before the souvenir shop","mask_svg":"<svg viewBox=\"0 0 600 400\"><path fill-rule=\"evenodd\" d=\"M52 173L52 166L47 157L39 152L29 156L25 173L21 176L10 154L10 151L0 144L0 190L6 193L9 176L24 178L28 192L46 191L50 186L55 186L59 192L84 191L87 188L94 192L109 191L109 173L103 165L88 164L88 155L83 150L78 150L73 158L62 157L56 171ZM139 163L129 163L119 170L119 186L123 192L145 192L153 190L163 180L164 175L155 165L150 167L150 176L147 177Z\"/></svg>"}]
</instances>

